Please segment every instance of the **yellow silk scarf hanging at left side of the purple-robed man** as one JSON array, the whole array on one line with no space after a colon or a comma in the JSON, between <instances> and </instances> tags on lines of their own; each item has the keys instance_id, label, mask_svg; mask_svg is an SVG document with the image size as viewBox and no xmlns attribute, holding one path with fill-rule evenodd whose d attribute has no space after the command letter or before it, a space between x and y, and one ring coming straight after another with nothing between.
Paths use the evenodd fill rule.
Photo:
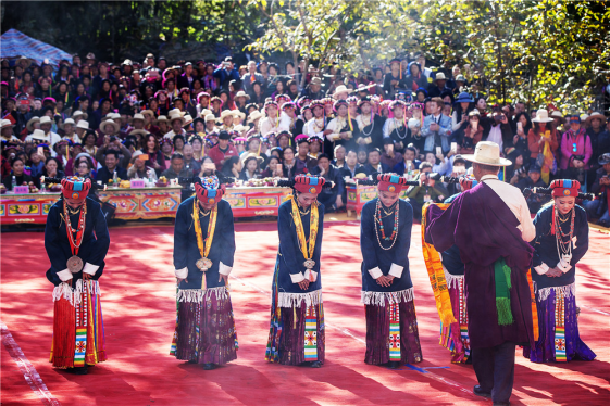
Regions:
<instances>
[{"instance_id":1,"label":"yellow silk scarf hanging at left side of the purple-robed man","mask_svg":"<svg viewBox=\"0 0 610 406\"><path fill-rule=\"evenodd\" d=\"M436 206L441 210L449 207L449 203L437 203ZM432 244L425 242L424 234L426 231L426 212L431 206L426 203L422 208L422 251L424 254L424 262L426 264L427 276L430 278L430 284L434 292L434 300L436 301L436 309L438 310L438 316L440 321L445 326L449 326L452 322L457 322L453 317L453 310L451 309L451 299L449 297L449 289L447 288L447 280L445 279L445 271L443 270L443 264L440 263L440 255L434 249Z\"/></svg>"}]
</instances>

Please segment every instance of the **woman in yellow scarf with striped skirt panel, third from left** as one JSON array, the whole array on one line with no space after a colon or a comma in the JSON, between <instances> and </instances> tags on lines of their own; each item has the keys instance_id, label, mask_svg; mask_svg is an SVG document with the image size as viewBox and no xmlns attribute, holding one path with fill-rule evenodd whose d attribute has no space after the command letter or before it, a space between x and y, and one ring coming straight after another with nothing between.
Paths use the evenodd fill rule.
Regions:
<instances>
[{"instance_id":1,"label":"woman in yellow scarf with striped skirt panel, third from left","mask_svg":"<svg viewBox=\"0 0 610 406\"><path fill-rule=\"evenodd\" d=\"M295 193L279 206L279 250L272 284L265 359L284 365L324 364L324 308L320 254L324 205L316 201L324 178L297 175L278 186Z\"/></svg>"}]
</instances>

